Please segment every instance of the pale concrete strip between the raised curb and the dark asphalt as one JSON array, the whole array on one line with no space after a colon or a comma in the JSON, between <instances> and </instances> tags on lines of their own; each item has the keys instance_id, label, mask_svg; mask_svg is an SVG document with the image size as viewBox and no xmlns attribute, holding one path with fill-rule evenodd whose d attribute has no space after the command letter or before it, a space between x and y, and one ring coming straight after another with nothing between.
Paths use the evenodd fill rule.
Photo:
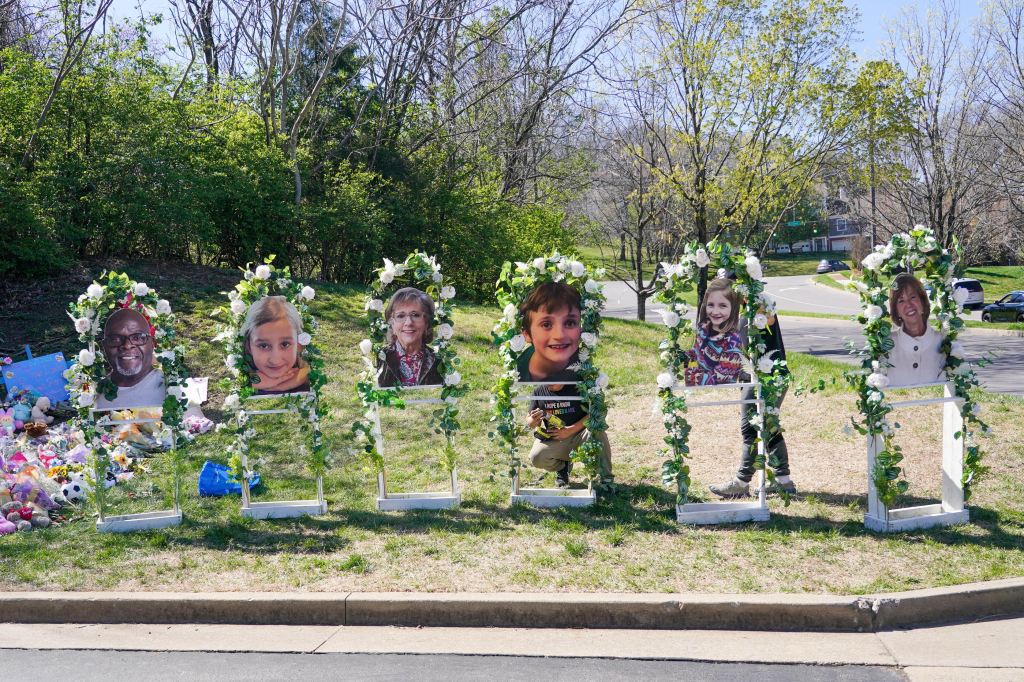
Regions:
<instances>
[{"instance_id":1,"label":"pale concrete strip between the raised curb and the dark asphalt","mask_svg":"<svg viewBox=\"0 0 1024 682\"><path fill-rule=\"evenodd\" d=\"M406 653L881 666L908 679L1024 679L1024 619L879 633L0 624L0 650ZM0 659L3 655L0 654Z\"/></svg>"}]
</instances>

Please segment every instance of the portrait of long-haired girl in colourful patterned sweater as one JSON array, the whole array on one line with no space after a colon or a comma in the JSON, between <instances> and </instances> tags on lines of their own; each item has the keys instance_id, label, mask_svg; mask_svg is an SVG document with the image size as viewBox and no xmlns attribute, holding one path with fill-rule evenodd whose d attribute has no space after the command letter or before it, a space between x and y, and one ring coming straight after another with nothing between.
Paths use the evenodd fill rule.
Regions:
<instances>
[{"instance_id":1,"label":"portrait of long-haired girl in colourful patterned sweater","mask_svg":"<svg viewBox=\"0 0 1024 682\"><path fill-rule=\"evenodd\" d=\"M739 295L732 282L719 278L708 283L697 312L693 347L686 351L687 386L734 384L743 369L739 338Z\"/></svg>"}]
</instances>

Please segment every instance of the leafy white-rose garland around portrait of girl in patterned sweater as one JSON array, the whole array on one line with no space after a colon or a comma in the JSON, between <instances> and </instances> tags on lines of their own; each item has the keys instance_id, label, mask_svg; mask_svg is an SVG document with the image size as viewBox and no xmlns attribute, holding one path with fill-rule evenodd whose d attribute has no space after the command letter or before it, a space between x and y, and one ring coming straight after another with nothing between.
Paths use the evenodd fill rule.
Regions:
<instances>
[{"instance_id":1,"label":"leafy white-rose garland around portrait of girl in patterned sweater","mask_svg":"<svg viewBox=\"0 0 1024 682\"><path fill-rule=\"evenodd\" d=\"M760 386L760 394L765 403L762 417L755 416L751 424L758 429L758 440L768 442L771 435L781 431L779 424L778 404L788 384L788 373L784 371L785 360L781 357L771 357L766 354L769 316L775 312L774 299L764 291L761 262L754 255L735 249L728 244L713 240L707 246L697 242L688 244L682 257L676 263L662 263L655 282L657 292L654 300L664 303L666 310L662 313L668 337L662 341L662 366L665 371L657 376L657 409L662 412L666 431L665 442L668 445L664 454L668 459L662 465L662 480L666 485L676 486L676 504L686 503L690 488L690 456L689 435L690 424L686 419L686 396L677 386L684 381L686 369L686 350L684 341L690 341L693 326L685 315L689 306L685 297L694 289L694 279L702 267L724 269L736 274L733 289L748 302L743 306L746 317L748 344L746 355L751 359L756 380ZM752 305L751 302L756 304ZM774 456L772 456L774 457ZM778 464L769 461L773 468ZM765 469L764 456L755 458L754 465ZM767 471L770 480L774 473Z\"/></svg>"}]
</instances>

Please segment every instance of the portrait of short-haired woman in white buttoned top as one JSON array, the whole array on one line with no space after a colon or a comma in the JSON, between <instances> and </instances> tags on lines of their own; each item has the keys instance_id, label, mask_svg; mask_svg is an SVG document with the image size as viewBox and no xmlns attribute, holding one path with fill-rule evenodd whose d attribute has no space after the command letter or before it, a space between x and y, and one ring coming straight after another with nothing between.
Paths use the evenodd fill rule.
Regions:
<instances>
[{"instance_id":1,"label":"portrait of short-haired woman in white buttoned top","mask_svg":"<svg viewBox=\"0 0 1024 682\"><path fill-rule=\"evenodd\" d=\"M915 276L899 274L889 291L889 315L895 329L895 346L889 352L890 386L943 381L946 356L942 335L928 324L928 294Z\"/></svg>"}]
</instances>

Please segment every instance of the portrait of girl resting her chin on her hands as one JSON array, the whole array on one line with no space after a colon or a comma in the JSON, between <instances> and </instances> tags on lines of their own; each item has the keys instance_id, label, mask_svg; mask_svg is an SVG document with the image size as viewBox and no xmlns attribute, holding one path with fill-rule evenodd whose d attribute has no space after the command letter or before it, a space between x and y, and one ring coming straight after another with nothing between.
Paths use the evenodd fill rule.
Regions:
<instances>
[{"instance_id":1,"label":"portrait of girl resting her chin on her hands","mask_svg":"<svg viewBox=\"0 0 1024 682\"><path fill-rule=\"evenodd\" d=\"M246 361L257 395L309 390L309 366L302 359L302 317L284 296L264 296L242 325Z\"/></svg>"}]
</instances>

